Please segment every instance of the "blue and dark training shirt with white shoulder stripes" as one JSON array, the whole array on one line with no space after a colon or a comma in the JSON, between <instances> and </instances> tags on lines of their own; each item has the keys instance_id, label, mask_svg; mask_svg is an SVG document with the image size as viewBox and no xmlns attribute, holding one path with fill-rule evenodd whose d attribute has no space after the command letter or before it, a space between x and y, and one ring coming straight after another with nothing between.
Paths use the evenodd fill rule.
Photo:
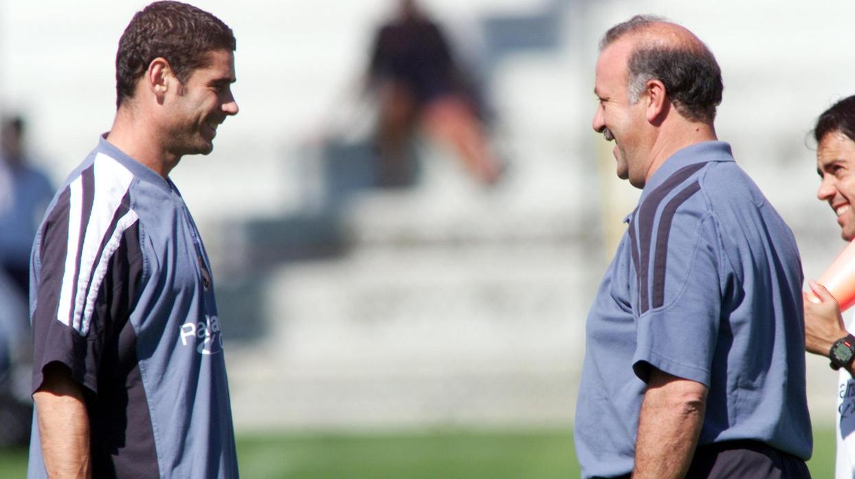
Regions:
<instances>
[{"instance_id":1,"label":"blue and dark training shirt with white shoulder stripes","mask_svg":"<svg viewBox=\"0 0 855 479\"><path fill-rule=\"evenodd\" d=\"M30 283L32 390L53 362L84 387L94 477L238 476L209 261L171 181L100 139L45 214Z\"/></svg>"}]
</instances>

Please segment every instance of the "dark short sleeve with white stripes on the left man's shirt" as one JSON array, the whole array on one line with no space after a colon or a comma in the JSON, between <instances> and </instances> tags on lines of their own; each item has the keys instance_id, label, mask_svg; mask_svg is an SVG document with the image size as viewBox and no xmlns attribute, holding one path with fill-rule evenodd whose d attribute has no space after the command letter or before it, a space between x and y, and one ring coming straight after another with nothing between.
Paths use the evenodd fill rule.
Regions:
<instances>
[{"instance_id":1,"label":"dark short sleeve with white stripes on the left man's shirt","mask_svg":"<svg viewBox=\"0 0 855 479\"><path fill-rule=\"evenodd\" d=\"M65 190L37 237L32 392L44 380L44 367L59 362L97 394L103 349L127 324L142 277L139 225L127 205L106 226L86 222L85 215L75 220L73 210Z\"/></svg>"}]
</instances>

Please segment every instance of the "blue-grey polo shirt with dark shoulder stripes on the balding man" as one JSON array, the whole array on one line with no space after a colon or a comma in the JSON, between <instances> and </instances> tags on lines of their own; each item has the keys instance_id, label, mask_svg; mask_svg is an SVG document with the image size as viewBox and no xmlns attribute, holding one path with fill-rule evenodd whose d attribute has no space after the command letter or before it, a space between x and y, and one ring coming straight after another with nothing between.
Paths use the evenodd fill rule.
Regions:
<instances>
[{"instance_id":1,"label":"blue-grey polo shirt with dark shoulder stripes on the balding man","mask_svg":"<svg viewBox=\"0 0 855 479\"><path fill-rule=\"evenodd\" d=\"M652 368L709 388L699 445L755 440L810 458L799 251L728 143L672 155L628 222L587 318L582 476L633 469Z\"/></svg>"}]
</instances>

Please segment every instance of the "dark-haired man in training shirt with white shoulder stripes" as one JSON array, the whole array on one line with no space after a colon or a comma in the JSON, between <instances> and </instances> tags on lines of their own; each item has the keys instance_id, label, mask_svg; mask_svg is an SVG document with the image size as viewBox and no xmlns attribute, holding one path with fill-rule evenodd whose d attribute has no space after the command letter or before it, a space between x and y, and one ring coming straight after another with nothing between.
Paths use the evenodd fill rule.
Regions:
<instances>
[{"instance_id":1,"label":"dark-haired man in training shirt with white shoulder stripes","mask_svg":"<svg viewBox=\"0 0 855 479\"><path fill-rule=\"evenodd\" d=\"M110 131L33 245L29 477L237 477L209 260L169 172L238 113L235 39L178 2L133 16Z\"/></svg>"}]
</instances>

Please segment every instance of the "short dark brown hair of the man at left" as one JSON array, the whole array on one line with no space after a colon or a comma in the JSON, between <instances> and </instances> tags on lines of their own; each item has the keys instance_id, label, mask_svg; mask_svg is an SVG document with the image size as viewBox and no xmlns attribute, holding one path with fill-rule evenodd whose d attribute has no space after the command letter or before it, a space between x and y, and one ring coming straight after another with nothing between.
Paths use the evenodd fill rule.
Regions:
<instances>
[{"instance_id":1,"label":"short dark brown hair of the man at left","mask_svg":"<svg viewBox=\"0 0 855 479\"><path fill-rule=\"evenodd\" d=\"M151 3L133 15L115 55L116 108L133 97L137 80L151 61L169 62L181 84L209 64L209 52L234 51L234 33L222 20L187 3Z\"/></svg>"}]
</instances>

